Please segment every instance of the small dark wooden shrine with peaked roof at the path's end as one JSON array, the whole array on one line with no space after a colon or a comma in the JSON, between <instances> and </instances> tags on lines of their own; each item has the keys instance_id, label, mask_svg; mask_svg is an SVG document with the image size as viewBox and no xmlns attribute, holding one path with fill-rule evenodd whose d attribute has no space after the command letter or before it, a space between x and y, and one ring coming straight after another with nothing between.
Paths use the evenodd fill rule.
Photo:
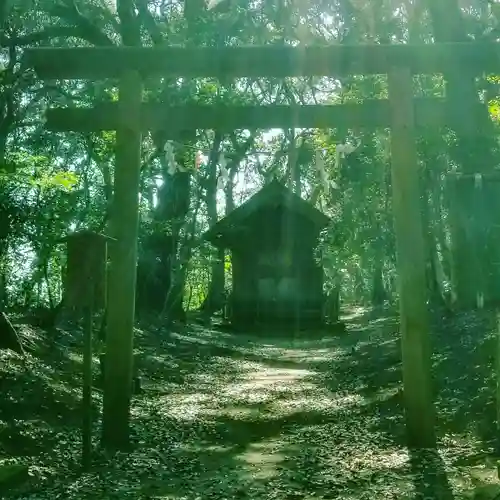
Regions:
<instances>
[{"instance_id":1,"label":"small dark wooden shrine with peaked roof at the path's end","mask_svg":"<svg viewBox=\"0 0 500 500\"><path fill-rule=\"evenodd\" d=\"M323 269L314 258L329 218L273 181L205 239L232 253L234 327L312 327L323 319Z\"/></svg>"}]
</instances>

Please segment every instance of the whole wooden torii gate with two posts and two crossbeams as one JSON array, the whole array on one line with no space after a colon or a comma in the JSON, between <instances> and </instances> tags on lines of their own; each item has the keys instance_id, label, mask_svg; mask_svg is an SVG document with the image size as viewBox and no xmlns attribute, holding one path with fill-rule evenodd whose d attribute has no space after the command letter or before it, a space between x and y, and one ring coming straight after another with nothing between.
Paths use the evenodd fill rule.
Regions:
<instances>
[{"instance_id":1,"label":"whole wooden torii gate with two posts and two crossbeams","mask_svg":"<svg viewBox=\"0 0 500 500\"><path fill-rule=\"evenodd\" d=\"M463 64L471 73L500 69L495 44L226 48L39 48L26 65L41 79L120 80L119 100L91 109L49 109L57 131L116 130L116 171L110 248L107 370L103 443L128 444L137 260L141 135L202 128L391 128L392 192L401 309L403 383L408 442L436 443L429 349L417 126L443 126L457 111L442 99L413 99L412 75ZM274 77L388 74L389 99L342 106L179 106L142 103L142 78ZM474 111L475 110L471 110ZM470 118L467 117L467 118Z\"/></svg>"}]
</instances>

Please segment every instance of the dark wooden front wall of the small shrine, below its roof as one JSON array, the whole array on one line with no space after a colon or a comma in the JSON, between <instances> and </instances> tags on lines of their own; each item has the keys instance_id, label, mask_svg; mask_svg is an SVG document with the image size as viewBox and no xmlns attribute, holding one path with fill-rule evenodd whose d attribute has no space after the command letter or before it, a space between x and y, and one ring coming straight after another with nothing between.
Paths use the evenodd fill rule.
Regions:
<instances>
[{"instance_id":1,"label":"dark wooden front wall of the small shrine, below its roof","mask_svg":"<svg viewBox=\"0 0 500 500\"><path fill-rule=\"evenodd\" d=\"M318 230L283 208L249 219L232 251L233 324L320 323L323 270L314 260Z\"/></svg>"}]
</instances>

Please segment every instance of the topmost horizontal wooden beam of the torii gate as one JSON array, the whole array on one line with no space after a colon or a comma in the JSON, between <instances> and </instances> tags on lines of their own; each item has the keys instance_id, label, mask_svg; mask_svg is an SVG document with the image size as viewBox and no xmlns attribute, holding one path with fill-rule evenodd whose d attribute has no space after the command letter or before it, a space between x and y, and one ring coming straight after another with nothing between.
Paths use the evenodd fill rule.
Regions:
<instances>
[{"instance_id":1,"label":"topmost horizontal wooden beam of the torii gate","mask_svg":"<svg viewBox=\"0 0 500 500\"><path fill-rule=\"evenodd\" d=\"M117 78L129 68L143 77L345 76L385 74L400 64L429 74L459 64L479 74L500 70L500 44L35 48L23 63L42 79Z\"/></svg>"}]
</instances>

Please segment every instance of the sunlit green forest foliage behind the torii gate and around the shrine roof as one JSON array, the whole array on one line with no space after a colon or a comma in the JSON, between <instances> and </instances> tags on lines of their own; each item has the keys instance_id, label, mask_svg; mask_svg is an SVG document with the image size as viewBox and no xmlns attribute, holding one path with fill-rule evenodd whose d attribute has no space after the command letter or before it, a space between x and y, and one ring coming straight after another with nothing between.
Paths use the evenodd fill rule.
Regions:
<instances>
[{"instance_id":1,"label":"sunlit green forest foliage behind the torii gate and around the shrine roof","mask_svg":"<svg viewBox=\"0 0 500 500\"><path fill-rule=\"evenodd\" d=\"M409 4L357 2L318 2L297 4L270 2L221 2L211 10L199 5L196 20L183 18L181 10L166 4L137 2L138 23L142 43L149 45L245 45L273 43L384 43L430 39L432 26L422 15L420 6ZM498 22L496 11L480 8L462 11L464 26L478 39L494 37ZM6 7L4 21L9 27L8 46L16 51L38 44L48 46L110 45L120 40L120 15L105 1L88 3L37 3L30 0L11 2ZM47 105L91 106L96 101L116 102L116 82L65 81L41 83L19 69L17 53L2 56L2 85L5 96L11 99L0 103L0 120L5 137L5 155L0 159L0 203L9 214L0 234L6 235L9 255L16 255L19 246L31 248L34 266L40 268L53 242L71 228L94 227L107 230L112 203L115 132L96 134L55 134L43 128L42 111ZM443 79L438 76L419 76L415 79L419 95L437 96L443 92ZM498 78L488 76L479 81L489 103L490 115L498 124ZM343 77L276 79L162 79L145 81L144 98L150 102L201 104L269 104L269 103L344 103L387 97L386 78ZM11 113L12 111L12 113ZM12 117L9 118L12 114ZM167 117L175 120L176 117ZM8 120L11 120L8 122ZM291 124L292 125L292 124ZM214 189L220 168L214 168L211 158L215 152L216 136L197 131L189 136L174 138L176 161L189 170L189 180L173 179L168 174L162 132L146 136L143 143L141 174L141 251L149 252L148 239L172 237L172 245L161 262L172 269L189 269L186 296L200 304L211 279L213 257L197 250L199 236L209 224L208 207L215 204L222 216L228 207L238 205L253 194L264 181L276 177L288 182L290 131L256 131L247 144L248 132L222 134L218 145L228 165L233 168L233 180L222 192ZM339 124L335 130L295 131L297 137L297 169L301 177L302 195L332 217L333 223L323 235L318 258L324 263L326 288L342 284L342 294L348 301L365 301L370 296L372 274L380 265L384 270L388 292L395 296L395 245L392 230L389 139L385 131L368 133L346 130ZM443 133L439 140L422 132L420 155L423 165L437 165L429 182L444 182L448 166L460 159L454 151L453 134ZM337 162L336 145L345 140L359 141L353 154ZM1 144L3 142L0 141ZM246 148L246 149L245 149ZM207 161L204 168L193 171L196 151L203 151ZM322 186L315 168L316 151L325 153L325 165L335 187L328 193ZM449 150L449 151L448 151ZM438 151L438 153L436 153ZM211 156L212 155L212 156ZM212 162L213 163L213 162ZM442 175L441 175L442 174ZM437 181L436 179L439 179ZM231 189L230 189L231 188ZM443 188L444 189L444 188ZM441 191L443 191L441 189ZM437 196L437 195L436 195ZM441 196L441 195L440 195ZM447 221L445 199L433 201ZM434 206L433 205L433 206ZM212 216L213 218L213 216ZM194 223L192 221L194 220ZM432 221L431 221L432 222ZM436 238L447 241L448 223L432 223ZM110 228L109 228L110 229ZM158 238L157 238L158 239ZM161 238L160 238L161 239ZM441 245L441 244L440 244ZM0 249L1 250L1 249ZM5 250L6 251L6 250ZM159 249L157 249L160 252ZM170 252L170 254L169 254ZM160 252L161 253L161 252ZM442 251L440 255L448 255ZM57 252L56 252L57 254ZM167 255L169 254L169 255ZM187 256L187 257L186 257ZM5 258L0 254L5 262ZM447 257L443 257L445 260ZM58 257L59 259L59 257ZM49 281L60 289L62 260L51 264ZM178 265L182 262L182 265ZM186 264L187 263L187 264ZM168 267L167 265L167 267ZM225 262L226 282L231 281L230 264ZM450 267L444 262L444 268ZM16 262L6 267L11 289L21 290L23 279L32 283L35 273L19 273ZM169 276L160 281L168 288ZM25 278L17 280L19 274ZM449 276L447 277L447 279ZM14 286L15 283L15 286ZM16 294L17 292L14 292Z\"/></svg>"}]
</instances>

